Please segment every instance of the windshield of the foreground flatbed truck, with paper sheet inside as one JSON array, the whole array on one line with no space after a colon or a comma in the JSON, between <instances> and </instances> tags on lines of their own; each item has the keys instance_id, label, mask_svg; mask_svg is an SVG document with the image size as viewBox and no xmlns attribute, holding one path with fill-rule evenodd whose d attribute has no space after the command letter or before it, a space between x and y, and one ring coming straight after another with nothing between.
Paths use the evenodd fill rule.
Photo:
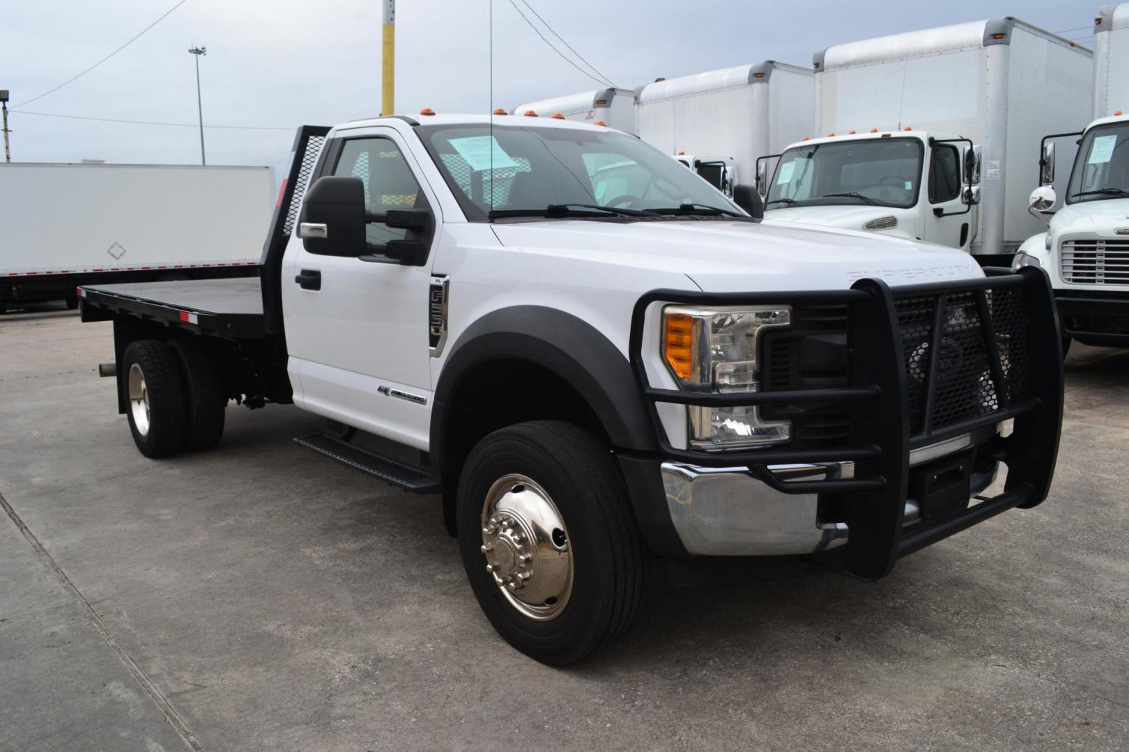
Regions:
<instances>
[{"instance_id":1,"label":"windshield of the foreground flatbed truck, with paper sheet inside","mask_svg":"<svg viewBox=\"0 0 1129 752\"><path fill-rule=\"evenodd\" d=\"M639 212L691 204L741 211L676 160L623 133L496 125L491 144L485 125L418 132L472 222L489 221L491 212L514 215L550 205ZM633 219L645 216L650 214Z\"/></svg>"}]
</instances>

